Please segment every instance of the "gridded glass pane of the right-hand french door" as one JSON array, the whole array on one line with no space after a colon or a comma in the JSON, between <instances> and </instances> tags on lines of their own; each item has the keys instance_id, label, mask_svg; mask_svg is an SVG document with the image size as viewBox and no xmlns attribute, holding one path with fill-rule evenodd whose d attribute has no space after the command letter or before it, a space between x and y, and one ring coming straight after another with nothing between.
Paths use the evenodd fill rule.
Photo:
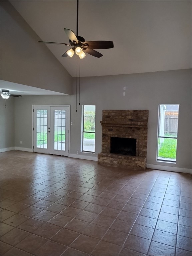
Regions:
<instances>
[{"instance_id":1,"label":"gridded glass pane of the right-hand french door","mask_svg":"<svg viewBox=\"0 0 192 256\"><path fill-rule=\"evenodd\" d=\"M54 150L65 151L66 110L54 110Z\"/></svg>"}]
</instances>

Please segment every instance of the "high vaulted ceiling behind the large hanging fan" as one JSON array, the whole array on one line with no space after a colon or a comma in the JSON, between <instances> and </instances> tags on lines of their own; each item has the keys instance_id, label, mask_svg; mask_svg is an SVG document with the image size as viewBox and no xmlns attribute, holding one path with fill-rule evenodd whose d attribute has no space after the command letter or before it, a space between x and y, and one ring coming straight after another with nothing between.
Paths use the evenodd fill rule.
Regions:
<instances>
[{"instance_id":1,"label":"high vaulted ceiling behind the large hanging fan","mask_svg":"<svg viewBox=\"0 0 192 256\"><path fill-rule=\"evenodd\" d=\"M63 28L76 34L76 1L11 1L42 41L68 43ZM103 76L191 68L191 1L79 1L79 36L109 40L80 61L80 76ZM45 46L46 47L46 46ZM70 47L48 45L71 76Z\"/></svg>"}]
</instances>

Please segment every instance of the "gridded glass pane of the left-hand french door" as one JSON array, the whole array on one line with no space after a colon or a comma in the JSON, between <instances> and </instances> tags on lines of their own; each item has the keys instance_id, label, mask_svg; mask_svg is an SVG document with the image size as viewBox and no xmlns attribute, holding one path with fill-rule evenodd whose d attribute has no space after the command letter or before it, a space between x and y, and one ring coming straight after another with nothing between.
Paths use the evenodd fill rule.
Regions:
<instances>
[{"instance_id":1,"label":"gridded glass pane of the left-hand french door","mask_svg":"<svg viewBox=\"0 0 192 256\"><path fill-rule=\"evenodd\" d=\"M37 110L36 147L47 149L47 110Z\"/></svg>"}]
</instances>

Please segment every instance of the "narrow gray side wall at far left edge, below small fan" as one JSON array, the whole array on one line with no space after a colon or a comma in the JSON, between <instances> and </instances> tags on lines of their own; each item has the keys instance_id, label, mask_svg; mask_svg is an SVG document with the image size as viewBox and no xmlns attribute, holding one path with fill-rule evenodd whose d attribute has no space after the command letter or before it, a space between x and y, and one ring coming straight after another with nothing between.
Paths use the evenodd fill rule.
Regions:
<instances>
[{"instance_id":1,"label":"narrow gray side wall at far left edge, below small fan","mask_svg":"<svg viewBox=\"0 0 192 256\"><path fill-rule=\"evenodd\" d=\"M14 98L5 100L0 96L0 149L15 146Z\"/></svg>"}]
</instances>

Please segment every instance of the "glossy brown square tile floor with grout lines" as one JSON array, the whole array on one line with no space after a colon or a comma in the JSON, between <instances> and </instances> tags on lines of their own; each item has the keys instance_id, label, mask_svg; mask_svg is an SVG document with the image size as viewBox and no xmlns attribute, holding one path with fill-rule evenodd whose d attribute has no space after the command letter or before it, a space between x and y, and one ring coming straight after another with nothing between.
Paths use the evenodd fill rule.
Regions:
<instances>
[{"instance_id":1,"label":"glossy brown square tile floor with grout lines","mask_svg":"<svg viewBox=\"0 0 192 256\"><path fill-rule=\"evenodd\" d=\"M191 175L0 155L0 255L191 256Z\"/></svg>"}]
</instances>

